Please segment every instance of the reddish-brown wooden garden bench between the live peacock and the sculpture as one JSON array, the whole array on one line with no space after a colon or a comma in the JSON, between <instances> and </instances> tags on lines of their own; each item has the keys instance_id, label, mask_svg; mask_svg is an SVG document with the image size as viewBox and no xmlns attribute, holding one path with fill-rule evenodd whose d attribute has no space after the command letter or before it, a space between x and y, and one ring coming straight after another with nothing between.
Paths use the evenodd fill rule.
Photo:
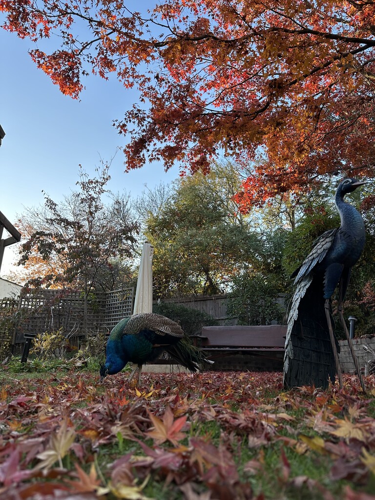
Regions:
<instances>
[{"instance_id":1,"label":"reddish-brown wooden garden bench between the live peacock and the sculpture","mask_svg":"<svg viewBox=\"0 0 375 500\"><path fill-rule=\"evenodd\" d=\"M200 346L209 359L215 361L212 369L221 364L223 357L237 354L256 356L259 358L257 361L267 360L267 369L274 362L275 368L277 365L279 369L285 350L285 335L286 325L281 324L203 326L201 334L194 336L194 343ZM234 358L233 364L238 364ZM261 368L261 362L252 365Z\"/></svg>"}]
</instances>

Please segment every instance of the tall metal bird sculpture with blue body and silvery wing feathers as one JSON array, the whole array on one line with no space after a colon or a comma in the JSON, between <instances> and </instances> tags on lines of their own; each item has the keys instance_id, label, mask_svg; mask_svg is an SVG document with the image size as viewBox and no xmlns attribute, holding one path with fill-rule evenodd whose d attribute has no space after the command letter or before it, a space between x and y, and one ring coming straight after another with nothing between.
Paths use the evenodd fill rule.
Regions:
<instances>
[{"instance_id":1,"label":"tall metal bird sculpture with blue body and silvery wing feathers","mask_svg":"<svg viewBox=\"0 0 375 500\"><path fill-rule=\"evenodd\" d=\"M285 388L315 385L326 388L337 373L342 386L338 359L339 345L333 332L330 298L338 285L338 313L351 355L365 391L349 332L342 314L342 302L352 266L359 259L365 241L365 230L358 210L344 201L345 194L364 184L346 178L337 187L334 202L341 225L319 236L302 265L293 273L296 285L288 316L285 340Z\"/></svg>"}]
</instances>

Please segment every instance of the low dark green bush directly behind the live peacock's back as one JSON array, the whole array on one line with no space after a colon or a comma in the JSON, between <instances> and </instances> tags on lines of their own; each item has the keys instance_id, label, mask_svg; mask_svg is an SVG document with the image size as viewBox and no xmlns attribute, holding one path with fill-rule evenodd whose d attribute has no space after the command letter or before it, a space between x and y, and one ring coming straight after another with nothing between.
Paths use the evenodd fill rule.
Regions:
<instances>
[{"instance_id":1,"label":"low dark green bush directly behind the live peacock's back","mask_svg":"<svg viewBox=\"0 0 375 500\"><path fill-rule=\"evenodd\" d=\"M153 304L152 312L162 314L178 322L186 335L199 334L203 326L218 324L218 321L206 312L173 302Z\"/></svg>"}]
</instances>

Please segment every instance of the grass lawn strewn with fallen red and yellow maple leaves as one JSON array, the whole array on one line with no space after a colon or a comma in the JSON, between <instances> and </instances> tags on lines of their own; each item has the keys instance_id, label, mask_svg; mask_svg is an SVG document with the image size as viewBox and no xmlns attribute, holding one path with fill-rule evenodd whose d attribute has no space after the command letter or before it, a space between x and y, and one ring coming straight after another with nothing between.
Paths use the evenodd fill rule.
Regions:
<instances>
[{"instance_id":1,"label":"grass lawn strewn with fallen red and yellow maple leaves","mask_svg":"<svg viewBox=\"0 0 375 500\"><path fill-rule=\"evenodd\" d=\"M375 379L0 371L0 500L375 500ZM374 494L372 494L372 493Z\"/></svg>"}]
</instances>

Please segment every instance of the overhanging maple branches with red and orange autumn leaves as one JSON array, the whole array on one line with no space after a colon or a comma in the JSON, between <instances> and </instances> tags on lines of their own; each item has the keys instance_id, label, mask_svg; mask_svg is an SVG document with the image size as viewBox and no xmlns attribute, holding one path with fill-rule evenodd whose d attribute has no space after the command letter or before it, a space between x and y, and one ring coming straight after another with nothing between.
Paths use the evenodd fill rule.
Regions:
<instances>
[{"instance_id":1,"label":"overhanging maple branches with red and orange autumn leaves","mask_svg":"<svg viewBox=\"0 0 375 500\"><path fill-rule=\"evenodd\" d=\"M372 1L149 6L0 1L3 28L45 47L30 55L65 94L77 98L89 71L138 89L115 121L130 133L127 169L161 159L207 172L222 152L253 165L238 194L243 209L337 169L373 175Z\"/></svg>"}]
</instances>

